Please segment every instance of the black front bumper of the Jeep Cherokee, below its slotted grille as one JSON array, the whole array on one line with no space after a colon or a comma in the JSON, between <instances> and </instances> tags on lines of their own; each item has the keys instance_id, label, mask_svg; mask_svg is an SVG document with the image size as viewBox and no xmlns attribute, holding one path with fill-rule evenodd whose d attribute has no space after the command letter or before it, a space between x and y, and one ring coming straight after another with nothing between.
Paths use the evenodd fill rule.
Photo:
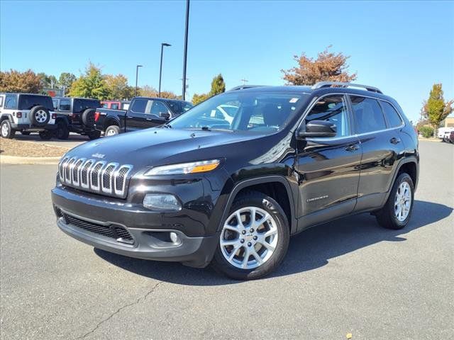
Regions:
<instances>
[{"instance_id":1,"label":"black front bumper of the Jeep Cherokee, below its slotted grille","mask_svg":"<svg viewBox=\"0 0 454 340\"><path fill-rule=\"evenodd\" d=\"M166 219L165 213L140 210L131 203L114 204L104 198L88 198L59 187L52 189L52 203L57 225L63 232L96 248L124 256L204 267L211 261L218 244L217 233L189 237L179 228L181 224ZM77 222L72 222L74 220ZM190 223L184 216L179 220L186 225ZM103 230L109 227L123 228L129 239L125 242L116 236L106 236ZM170 241L170 232L179 237L177 244Z\"/></svg>"}]
</instances>

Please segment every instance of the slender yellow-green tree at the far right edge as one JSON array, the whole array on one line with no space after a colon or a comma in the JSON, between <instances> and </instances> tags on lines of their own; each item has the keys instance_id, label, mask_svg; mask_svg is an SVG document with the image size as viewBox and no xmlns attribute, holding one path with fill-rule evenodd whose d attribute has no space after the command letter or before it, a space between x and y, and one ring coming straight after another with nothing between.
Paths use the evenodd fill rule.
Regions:
<instances>
[{"instance_id":1,"label":"slender yellow-green tree at the far right edge","mask_svg":"<svg viewBox=\"0 0 454 340\"><path fill-rule=\"evenodd\" d=\"M454 101L445 101L441 84L433 84L428 100L423 102L423 116L425 116L433 128L438 129L441 122L453 112Z\"/></svg>"}]
</instances>

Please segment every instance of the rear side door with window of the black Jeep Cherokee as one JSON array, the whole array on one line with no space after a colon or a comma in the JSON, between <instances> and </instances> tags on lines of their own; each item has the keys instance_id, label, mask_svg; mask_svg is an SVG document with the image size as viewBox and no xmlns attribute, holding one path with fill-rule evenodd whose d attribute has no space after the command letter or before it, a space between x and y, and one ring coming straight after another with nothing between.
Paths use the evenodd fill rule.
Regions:
<instances>
[{"instance_id":1,"label":"rear side door with window of the black Jeep Cherokee","mask_svg":"<svg viewBox=\"0 0 454 340\"><path fill-rule=\"evenodd\" d=\"M377 98L350 95L355 119L355 132L362 147L358 203L355 210L377 208L391 185L397 161L403 156L404 145L399 137L402 120L384 117L387 102ZM392 121L391 121L392 120ZM393 122L393 123L392 123ZM392 126L396 125L396 126Z\"/></svg>"}]
</instances>

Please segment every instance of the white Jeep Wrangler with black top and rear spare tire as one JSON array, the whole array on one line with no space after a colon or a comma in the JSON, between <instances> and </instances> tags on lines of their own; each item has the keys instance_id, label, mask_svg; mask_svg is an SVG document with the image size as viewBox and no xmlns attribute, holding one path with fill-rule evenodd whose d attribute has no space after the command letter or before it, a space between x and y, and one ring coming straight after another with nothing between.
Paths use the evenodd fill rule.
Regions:
<instances>
[{"instance_id":1,"label":"white Jeep Wrangler with black top and rear spare tire","mask_svg":"<svg viewBox=\"0 0 454 340\"><path fill-rule=\"evenodd\" d=\"M43 140L50 140L56 128L55 118L50 96L0 93L0 135L3 138L13 138L16 131L21 131L22 135L39 132Z\"/></svg>"}]
</instances>

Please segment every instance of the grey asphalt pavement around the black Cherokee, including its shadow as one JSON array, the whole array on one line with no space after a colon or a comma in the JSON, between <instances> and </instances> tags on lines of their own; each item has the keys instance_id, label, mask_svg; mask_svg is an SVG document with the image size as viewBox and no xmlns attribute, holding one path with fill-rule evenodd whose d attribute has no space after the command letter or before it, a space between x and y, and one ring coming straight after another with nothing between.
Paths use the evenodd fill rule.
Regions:
<instances>
[{"instance_id":1,"label":"grey asphalt pavement around the black Cherokee, including its shadow","mask_svg":"<svg viewBox=\"0 0 454 340\"><path fill-rule=\"evenodd\" d=\"M454 339L453 155L421 142L406 229L309 229L250 282L94 250L55 225L55 166L2 166L1 338Z\"/></svg>"}]
</instances>

